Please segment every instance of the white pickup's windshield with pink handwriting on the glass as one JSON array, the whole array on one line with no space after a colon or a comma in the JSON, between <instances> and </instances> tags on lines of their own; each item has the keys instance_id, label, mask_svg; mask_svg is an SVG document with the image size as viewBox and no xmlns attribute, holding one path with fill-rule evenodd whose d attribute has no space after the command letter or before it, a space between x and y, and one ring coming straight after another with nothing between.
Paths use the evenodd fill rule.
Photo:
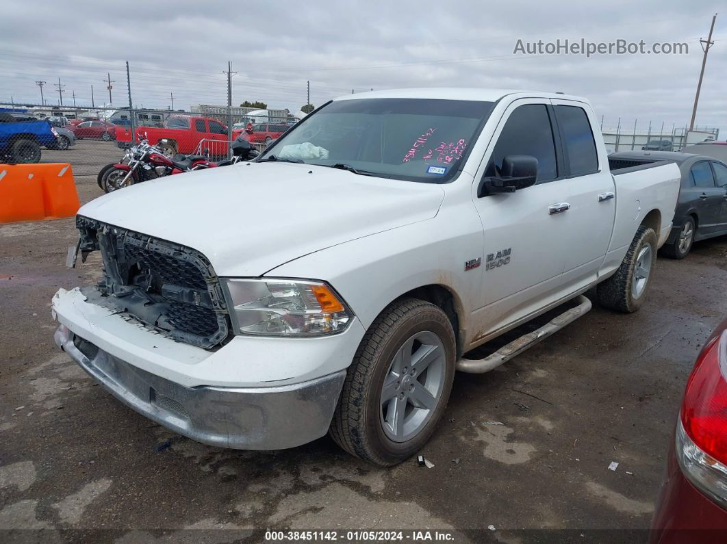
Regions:
<instances>
[{"instance_id":1,"label":"white pickup's windshield with pink handwriting on the glass","mask_svg":"<svg viewBox=\"0 0 727 544\"><path fill-rule=\"evenodd\" d=\"M258 160L442 183L461 168L492 107L466 100L338 100L297 123Z\"/></svg>"}]
</instances>

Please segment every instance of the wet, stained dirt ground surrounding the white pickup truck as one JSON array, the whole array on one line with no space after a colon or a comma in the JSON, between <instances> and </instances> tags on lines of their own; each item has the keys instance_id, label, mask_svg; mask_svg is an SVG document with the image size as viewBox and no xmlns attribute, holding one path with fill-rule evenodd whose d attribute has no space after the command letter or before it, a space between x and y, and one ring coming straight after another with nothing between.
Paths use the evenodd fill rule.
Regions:
<instances>
[{"instance_id":1,"label":"wet, stained dirt ground surrounding the white pickup truck","mask_svg":"<svg viewBox=\"0 0 727 544\"><path fill-rule=\"evenodd\" d=\"M95 179L78 182L82 201L100 195ZM434 468L382 470L327 437L276 452L207 447L121 405L52 341L52 294L98 275L95 263L65 269L75 240L72 219L0 225L6 541L257 542L287 527L643 541L686 376L727 314L726 238L659 259L640 312L596 306L494 372L457 375L422 452Z\"/></svg>"}]
</instances>

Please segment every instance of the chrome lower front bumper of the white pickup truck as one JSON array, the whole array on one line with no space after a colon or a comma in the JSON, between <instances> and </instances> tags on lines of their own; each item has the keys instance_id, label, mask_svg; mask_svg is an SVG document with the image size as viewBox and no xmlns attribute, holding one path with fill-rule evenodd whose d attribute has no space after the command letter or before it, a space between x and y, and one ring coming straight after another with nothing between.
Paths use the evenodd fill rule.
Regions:
<instances>
[{"instance_id":1,"label":"chrome lower front bumper of the white pickup truck","mask_svg":"<svg viewBox=\"0 0 727 544\"><path fill-rule=\"evenodd\" d=\"M185 437L240 450L281 450L328 431L345 370L278 387L185 387L130 365L76 336L65 325L55 343L113 394Z\"/></svg>"}]
</instances>

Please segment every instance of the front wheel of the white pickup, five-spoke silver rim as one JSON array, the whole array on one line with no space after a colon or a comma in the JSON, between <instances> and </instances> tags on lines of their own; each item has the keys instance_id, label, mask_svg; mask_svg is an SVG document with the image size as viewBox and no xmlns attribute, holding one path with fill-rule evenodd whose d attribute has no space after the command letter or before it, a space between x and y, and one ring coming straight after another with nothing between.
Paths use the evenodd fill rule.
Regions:
<instances>
[{"instance_id":1,"label":"front wheel of the white pickup, five-spoke silver rim","mask_svg":"<svg viewBox=\"0 0 727 544\"><path fill-rule=\"evenodd\" d=\"M441 308L419 299L393 302L358 346L329 434L351 455L374 465L392 466L411 457L444 413L456 352L451 322ZM424 363L420 373L409 367L412 359Z\"/></svg>"}]
</instances>

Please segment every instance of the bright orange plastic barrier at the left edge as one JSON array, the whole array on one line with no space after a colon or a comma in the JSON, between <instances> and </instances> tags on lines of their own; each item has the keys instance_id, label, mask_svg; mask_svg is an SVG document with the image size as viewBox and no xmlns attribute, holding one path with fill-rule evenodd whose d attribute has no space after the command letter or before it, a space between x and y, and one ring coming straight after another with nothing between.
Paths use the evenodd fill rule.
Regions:
<instances>
[{"instance_id":1,"label":"bright orange plastic barrier at the left edge","mask_svg":"<svg viewBox=\"0 0 727 544\"><path fill-rule=\"evenodd\" d=\"M80 207L70 164L0 164L0 223L73 217Z\"/></svg>"}]
</instances>

